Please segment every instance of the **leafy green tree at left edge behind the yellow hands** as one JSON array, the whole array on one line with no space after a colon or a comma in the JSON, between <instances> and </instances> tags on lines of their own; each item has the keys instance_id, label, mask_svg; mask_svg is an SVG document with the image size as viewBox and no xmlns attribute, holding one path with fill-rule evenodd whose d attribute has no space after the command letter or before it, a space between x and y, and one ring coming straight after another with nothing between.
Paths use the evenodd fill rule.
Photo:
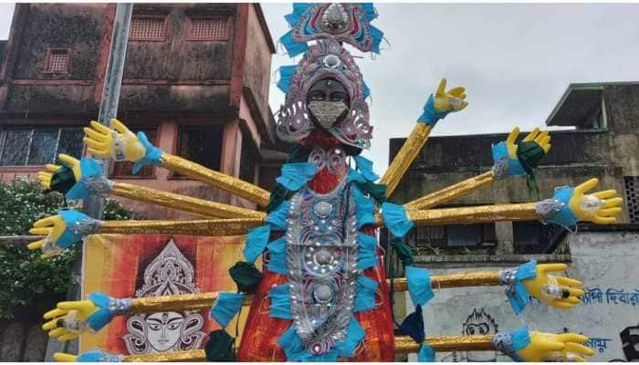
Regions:
<instances>
[{"instance_id":1,"label":"leafy green tree at left edge behind the yellow hands","mask_svg":"<svg viewBox=\"0 0 639 365\"><path fill-rule=\"evenodd\" d=\"M38 219L61 208L79 208L60 193L42 193L37 183L16 179L0 182L0 235L28 235ZM106 200L104 219L136 219L119 203ZM25 245L0 245L0 319L41 318L67 295L71 266L79 250L74 246L61 255L43 260L40 252Z\"/></svg>"}]
</instances>

